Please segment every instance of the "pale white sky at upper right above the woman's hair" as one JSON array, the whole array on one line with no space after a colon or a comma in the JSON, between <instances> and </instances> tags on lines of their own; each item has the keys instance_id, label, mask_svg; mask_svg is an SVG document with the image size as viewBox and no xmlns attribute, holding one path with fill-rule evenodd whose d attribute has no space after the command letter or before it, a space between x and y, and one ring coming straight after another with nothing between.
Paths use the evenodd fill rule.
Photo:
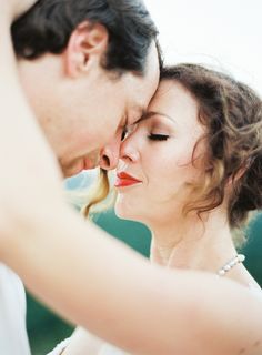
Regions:
<instances>
[{"instance_id":1,"label":"pale white sky at upper right above the woman's hair","mask_svg":"<svg viewBox=\"0 0 262 355\"><path fill-rule=\"evenodd\" d=\"M225 70L262 95L262 0L144 0L167 63Z\"/></svg>"}]
</instances>

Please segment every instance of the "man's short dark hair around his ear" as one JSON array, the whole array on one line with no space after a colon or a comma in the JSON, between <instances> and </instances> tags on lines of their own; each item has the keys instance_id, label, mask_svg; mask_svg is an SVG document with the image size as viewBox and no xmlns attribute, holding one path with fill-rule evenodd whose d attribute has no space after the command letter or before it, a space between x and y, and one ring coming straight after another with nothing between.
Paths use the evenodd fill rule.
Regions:
<instances>
[{"instance_id":1,"label":"man's short dark hair around his ear","mask_svg":"<svg viewBox=\"0 0 262 355\"><path fill-rule=\"evenodd\" d=\"M141 0L39 0L12 24L17 57L62 53L73 30L85 20L103 24L109 32L104 69L143 73L158 31Z\"/></svg>"}]
</instances>

